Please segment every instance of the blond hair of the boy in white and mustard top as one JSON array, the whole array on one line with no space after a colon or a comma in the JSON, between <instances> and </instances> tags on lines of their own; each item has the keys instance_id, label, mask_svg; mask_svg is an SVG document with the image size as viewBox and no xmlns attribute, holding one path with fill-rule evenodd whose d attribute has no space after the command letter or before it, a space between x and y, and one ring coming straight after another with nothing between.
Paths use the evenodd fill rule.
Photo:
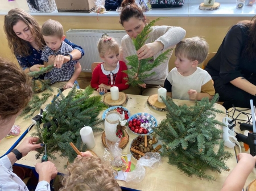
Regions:
<instances>
[{"instance_id":1,"label":"blond hair of the boy in white and mustard top","mask_svg":"<svg viewBox=\"0 0 256 191\"><path fill-rule=\"evenodd\" d=\"M202 63L208 55L209 45L205 39L195 36L181 40L175 48L175 56L184 56L188 60Z\"/></svg>"}]
</instances>

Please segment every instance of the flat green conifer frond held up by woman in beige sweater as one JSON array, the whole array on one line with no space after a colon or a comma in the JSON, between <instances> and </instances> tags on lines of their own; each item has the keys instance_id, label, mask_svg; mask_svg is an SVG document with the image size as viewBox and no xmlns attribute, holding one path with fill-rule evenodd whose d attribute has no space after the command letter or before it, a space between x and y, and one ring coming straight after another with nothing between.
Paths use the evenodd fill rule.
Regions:
<instances>
[{"instance_id":1,"label":"flat green conifer frond held up by woman in beige sweater","mask_svg":"<svg viewBox=\"0 0 256 191\"><path fill-rule=\"evenodd\" d=\"M152 31L152 26L154 26L155 22L157 22L160 18L156 20L152 20L149 24L147 24L141 33L136 37L136 39L133 39L133 44L135 46L135 49L140 49L148 39L148 34ZM126 59L129 61L127 65L131 66L129 70L125 70L125 72L128 75L127 84L130 84L131 86L137 86L137 84L143 84L143 80L145 78L150 77L151 75L154 75L155 73L149 73L154 67L159 66L163 61L168 59L168 54L173 49L168 49L166 52L163 52L160 54L152 63L150 62L152 60L151 58L146 58L142 60L138 60L137 55L132 55L129 57L126 57Z\"/></svg>"}]
</instances>

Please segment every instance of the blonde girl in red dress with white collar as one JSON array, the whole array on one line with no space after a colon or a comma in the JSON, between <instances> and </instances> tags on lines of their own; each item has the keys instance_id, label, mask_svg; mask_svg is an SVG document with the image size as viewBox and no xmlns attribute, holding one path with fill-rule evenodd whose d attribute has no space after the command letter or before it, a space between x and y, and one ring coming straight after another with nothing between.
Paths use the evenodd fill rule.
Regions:
<instances>
[{"instance_id":1,"label":"blonde girl in red dress with white collar","mask_svg":"<svg viewBox=\"0 0 256 191\"><path fill-rule=\"evenodd\" d=\"M102 35L98 41L98 53L104 62L99 63L92 73L90 86L96 88L100 94L110 90L112 86L117 86L119 91L126 90L129 85L126 84L127 70L125 62L119 61L119 45L107 34Z\"/></svg>"}]
</instances>

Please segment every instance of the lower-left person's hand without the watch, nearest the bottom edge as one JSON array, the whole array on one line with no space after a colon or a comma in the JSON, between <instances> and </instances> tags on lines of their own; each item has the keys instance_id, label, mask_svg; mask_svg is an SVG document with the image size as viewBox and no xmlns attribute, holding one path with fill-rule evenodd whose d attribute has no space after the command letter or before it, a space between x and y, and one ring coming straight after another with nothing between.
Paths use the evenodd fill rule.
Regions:
<instances>
[{"instance_id":1,"label":"lower-left person's hand without the watch, nearest the bottom edge","mask_svg":"<svg viewBox=\"0 0 256 191\"><path fill-rule=\"evenodd\" d=\"M50 182L57 175L57 168L52 162L36 163L36 172L39 174L39 182L45 180Z\"/></svg>"}]
</instances>

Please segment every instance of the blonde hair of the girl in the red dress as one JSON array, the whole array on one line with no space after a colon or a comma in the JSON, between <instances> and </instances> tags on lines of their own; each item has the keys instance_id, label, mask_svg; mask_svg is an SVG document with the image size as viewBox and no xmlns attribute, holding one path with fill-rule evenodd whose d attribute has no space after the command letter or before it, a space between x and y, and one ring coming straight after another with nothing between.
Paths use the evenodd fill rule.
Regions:
<instances>
[{"instance_id":1,"label":"blonde hair of the girl in the red dress","mask_svg":"<svg viewBox=\"0 0 256 191\"><path fill-rule=\"evenodd\" d=\"M119 45L113 37L109 37L107 34L102 35L101 39L98 41L98 53L100 57L104 57L105 53L114 52L115 54L119 53Z\"/></svg>"}]
</instances>

